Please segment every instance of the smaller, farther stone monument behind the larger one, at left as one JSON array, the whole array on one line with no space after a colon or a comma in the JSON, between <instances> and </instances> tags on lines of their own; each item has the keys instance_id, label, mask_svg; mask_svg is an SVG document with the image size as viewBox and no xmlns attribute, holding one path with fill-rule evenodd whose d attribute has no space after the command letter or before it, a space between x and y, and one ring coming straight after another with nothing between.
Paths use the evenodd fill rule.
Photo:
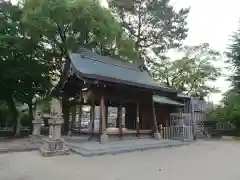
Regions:
<instances>
[{"instance_id":1,"label":"smaller, farther stone monument behind the larger one, at left","mask_svg":"<svg viewBox=\"0 0 240 180\"><path fill-rule=\"evenodd\" d=\"M41 135L41 124L42 119L40 115L37 115L33 123L32 135L29 135L28 141L30 143L40 143L42 142L43 136Z\"/></svg>"}]
</instances>

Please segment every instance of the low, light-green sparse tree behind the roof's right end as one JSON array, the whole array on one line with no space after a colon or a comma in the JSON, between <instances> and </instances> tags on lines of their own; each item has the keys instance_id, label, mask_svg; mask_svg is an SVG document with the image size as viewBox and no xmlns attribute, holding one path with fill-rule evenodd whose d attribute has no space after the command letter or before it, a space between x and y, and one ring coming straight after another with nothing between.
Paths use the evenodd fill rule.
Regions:
<instances>
[{"instance_id":1,"label":"low, light-green sparse tree behind the roof's right end","mask_svg":"<svg viewBox=\"0 0 240 180\"><path fill-rule=\"evenodd\" d=\"M215 81L221 75L220 69L213 64L220 54L208 44L183 47L180 49L182 58L174 61L163 56L158 49L154 52L157 57L152 62L152 72L157 82L203 96L217 91L209 81Z\"/></svg>"}]
</instances>

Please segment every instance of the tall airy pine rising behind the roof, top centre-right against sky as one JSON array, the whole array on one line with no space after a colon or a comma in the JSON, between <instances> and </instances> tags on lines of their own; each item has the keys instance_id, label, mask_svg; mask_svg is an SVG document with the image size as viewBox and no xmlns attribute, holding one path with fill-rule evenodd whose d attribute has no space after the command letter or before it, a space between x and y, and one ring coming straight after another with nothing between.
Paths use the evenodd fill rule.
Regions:
<instances>
[{"instance_id":1,"label":"tall airy pine rising behind the roof, top centre-right against sky","mask_svg":"<svg viewBox=\"0 0 240 180\"><path fill-rule=\"evenodd\" d=\"M149 59L148 52L153 47L164 52L179 47L187 37L189 8L176 11L169 0L134 0L128 7L122 0L108 2L126 34L135 41L135 49L140 52L142 63Z\"/></svg>"}]
</instances>

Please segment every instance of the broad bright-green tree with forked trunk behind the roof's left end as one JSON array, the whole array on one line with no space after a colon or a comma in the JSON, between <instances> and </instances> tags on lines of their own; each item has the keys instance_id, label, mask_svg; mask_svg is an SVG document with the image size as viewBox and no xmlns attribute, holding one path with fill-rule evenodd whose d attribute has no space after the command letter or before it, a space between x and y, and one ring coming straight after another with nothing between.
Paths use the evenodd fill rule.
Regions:
<instances>
[{"instance_id":1,"label":"broad bright-green tree with forked trunk behind the roof's left end","mask_svg":"<svg viewBox=\"0 0 240 180\"><path fill-rule=\"evenodd\" d=\"M26 0L24 21L53 54L49 64L53 72L58 71L55 76L60 74L54 92L62 100L65 132L68 131L70 105L69 97L60 92L70 66L69 51L86 47L122 60L137 59L131 40L124 36L120 24L97 0Z\"/></svg>"}]
</instances>

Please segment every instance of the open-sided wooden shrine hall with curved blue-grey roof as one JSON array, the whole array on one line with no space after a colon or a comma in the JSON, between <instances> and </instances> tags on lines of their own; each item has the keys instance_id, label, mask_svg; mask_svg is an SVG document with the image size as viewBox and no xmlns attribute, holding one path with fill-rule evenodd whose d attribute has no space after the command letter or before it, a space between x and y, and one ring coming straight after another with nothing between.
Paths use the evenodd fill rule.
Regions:
<instances>
[{"instance_id":1,"label":"open-sided wooden shrine hall with curved blue-grey roof","mask_svg":"<svg viewBox=\"0 0 240 180\"><path fill-rule=\"evenodd\" d=\"M85 48L70 54L71 64L64 91L78 105L89 105L92 136L101 143L110 137L151 135L160 139L159 124L181 103L177 91L157 84L147 70L135 64L101 56ZM95 106L100 106L99 131L94 132ZM117 107L117 126L107 127L108 107ZM125 126L122 109L125 108ZM114 129L114 130L113 130Z\"/></svg>"}]
</instances>

